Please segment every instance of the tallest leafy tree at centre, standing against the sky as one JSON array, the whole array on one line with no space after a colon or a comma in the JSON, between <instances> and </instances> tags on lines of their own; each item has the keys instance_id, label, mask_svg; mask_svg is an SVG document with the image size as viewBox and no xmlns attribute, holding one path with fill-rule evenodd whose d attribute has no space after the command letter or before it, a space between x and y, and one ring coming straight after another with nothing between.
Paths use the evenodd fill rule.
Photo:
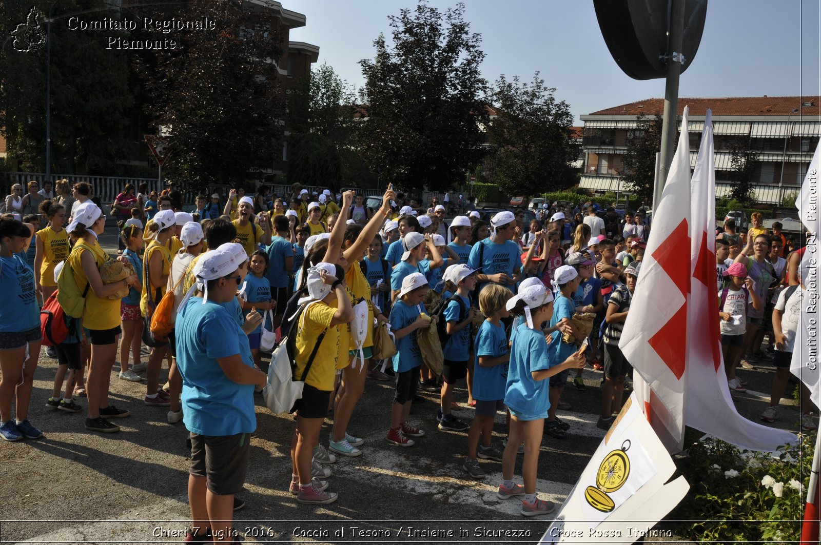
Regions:
<instances>
[{"instance_id":1,"label":"tallest leafy tree at centre, standing against the sky","mask_svg":"<svg viewBox=\"0 0 821 545\"><path fill-rule=\"evenodd\" d=\"M442 12L420 0L415 11L388 17L392 44L380 35L374 60L360 61L366 117L356 145L380 180L410 192L445 190L482 158L484 52L464 15L463 3Z\"/></svg>"}]
</instances>

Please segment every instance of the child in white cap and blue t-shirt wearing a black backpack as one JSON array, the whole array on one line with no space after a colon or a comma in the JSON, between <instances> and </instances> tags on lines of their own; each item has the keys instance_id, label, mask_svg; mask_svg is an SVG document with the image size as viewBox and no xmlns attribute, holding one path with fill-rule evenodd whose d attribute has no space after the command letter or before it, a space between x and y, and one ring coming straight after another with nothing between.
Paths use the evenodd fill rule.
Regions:
<instances>
[{"instance_id":1,"label":"child in white cap and blue t-shirt wearing a black backpack","mask_svg":"<svg viewBox=\"0 0 821 545\"><path fill-rule=\"evenodd\" d=\"M461 431L468 425L451 414L453 386L457 381L467 377L470 352L470 323L476 311L471 307L470 294L476 287L475 270L465 264L454 265L450 278L456 284L456 297L444 309L443 318L447 321L447 341L442 353L445 364L442 371L444 383L440 392L441 406L438 410L439 429Z\"/></svg>"}]
</instances>

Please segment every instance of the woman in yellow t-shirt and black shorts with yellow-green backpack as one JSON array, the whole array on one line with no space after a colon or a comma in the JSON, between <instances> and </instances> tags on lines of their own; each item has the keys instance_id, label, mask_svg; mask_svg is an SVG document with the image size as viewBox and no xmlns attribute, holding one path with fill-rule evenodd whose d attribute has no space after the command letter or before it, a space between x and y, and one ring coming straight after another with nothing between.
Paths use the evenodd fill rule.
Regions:
<instances>
[{"instance_id":1,"label":"woman in yellow t-shirt and black shorts with yellow-green backpack","mask_svg":"<svg viewBox=\"0 0 821 545\"><path fill-rule=\"evenodd\" d=\"M71 267L80 290L85 291L85 286L89 287L83 307L83 328L91 344L89 374L85 380L89 399L85 428L94 432L114 433L120 431L120 427L108 419L125 418L131 413L108 404L108 383L112 364L117 358L117 338L122 332L120 300L108 299L108 295L116 293L122 285L132 286L137 277L132 274L122 281L122 285L120 282L103 284L99 268L108 256L97 238L104 230L105 216L99 206L90 201L78 204L74 218L66 227L71 240L74 240L67 265Z\"/></svg>"}]
</instances>

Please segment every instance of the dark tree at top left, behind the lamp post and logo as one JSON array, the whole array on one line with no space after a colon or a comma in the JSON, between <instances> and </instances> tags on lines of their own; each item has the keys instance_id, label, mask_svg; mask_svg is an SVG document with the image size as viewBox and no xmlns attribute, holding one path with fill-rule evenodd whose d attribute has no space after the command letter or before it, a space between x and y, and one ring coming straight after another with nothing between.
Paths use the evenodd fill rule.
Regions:
<instances>
[{"instance_id":1,"label":"dark tree at top left, behind the lamp post and logo","mask_svg":"<svg viewBox=\"0 0 821 545\"><path fill-rule=\"evenodd\" d=\"M115 174L114 163L129 152L128 112L133 103L125 51L108 49L108 35L78 32L70 16L116 16L103 0L0 2L0 35L8 37L38 10L36 27L45 37L44 14L52 8L51 163L55 173ZM0 48L0 131L8 155L23 170L44 172L46 139L46 47L20 51L11 38Z\"/></svg>"}]
</instances>

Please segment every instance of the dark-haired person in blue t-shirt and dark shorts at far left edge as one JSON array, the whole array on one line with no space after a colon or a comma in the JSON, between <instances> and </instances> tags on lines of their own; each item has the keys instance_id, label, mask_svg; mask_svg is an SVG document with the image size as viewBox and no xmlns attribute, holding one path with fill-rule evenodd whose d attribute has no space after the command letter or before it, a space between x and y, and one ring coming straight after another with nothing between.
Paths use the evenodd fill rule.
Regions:
<instances>
[{"instance_id":1,"label":"dark-haired person in blue t-shirt and dark shorts at far left edge","mask_svg":"<svg viewBox=\"0 0 821 545\"><path fill-rule=\"evenodd\" d=\"M25 263L30 227L0 220L0 436L6 441L43 435L28 420L34 369L40 353L40 326L34 272ZM11 400L16 398L16 420Z\"/></svg>"}]
</instances>

